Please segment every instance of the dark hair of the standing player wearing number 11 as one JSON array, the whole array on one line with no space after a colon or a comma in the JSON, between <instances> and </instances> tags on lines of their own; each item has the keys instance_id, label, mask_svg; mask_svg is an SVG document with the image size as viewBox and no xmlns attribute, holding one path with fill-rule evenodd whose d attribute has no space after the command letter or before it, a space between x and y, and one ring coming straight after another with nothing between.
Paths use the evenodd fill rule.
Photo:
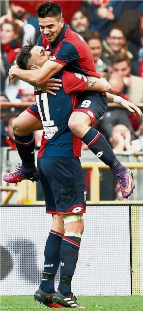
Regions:
<instances>
[{"instance_id":1,"label":"dark hair of the standing player wearing number 11","mask_svg":"<svg viewBox=\"0 0 143 311\"><path fill-rule=\"evenodd\" d=\"M19 66L20 69L24 69L27 70L28 69L28 62L29 59L31 58L31 49L35 46L35 44L33 44L31 42L31 40L27 40L28 45L25 45L22 50L18 53L16 61L17 61L17 65Z\"/></svg>"}]
</instances>

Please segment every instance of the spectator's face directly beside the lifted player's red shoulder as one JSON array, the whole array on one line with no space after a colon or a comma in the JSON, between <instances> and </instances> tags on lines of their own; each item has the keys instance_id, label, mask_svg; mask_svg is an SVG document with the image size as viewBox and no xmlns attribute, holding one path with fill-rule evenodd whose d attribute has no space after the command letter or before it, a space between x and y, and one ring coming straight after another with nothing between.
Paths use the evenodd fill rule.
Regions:
<instances>
[{"instance_id":1,"label":"spectator's face directly beside the lifted player's red shoulder","mask_svg":"<svg viewBox=\"0 0 143 311\"><path fill-rule=\"evenodd\" d=\"M90 39L87 43L90 47L94 63L96 63L102 54L102 43L99 39Z\"/></svg>"}]
</instances>

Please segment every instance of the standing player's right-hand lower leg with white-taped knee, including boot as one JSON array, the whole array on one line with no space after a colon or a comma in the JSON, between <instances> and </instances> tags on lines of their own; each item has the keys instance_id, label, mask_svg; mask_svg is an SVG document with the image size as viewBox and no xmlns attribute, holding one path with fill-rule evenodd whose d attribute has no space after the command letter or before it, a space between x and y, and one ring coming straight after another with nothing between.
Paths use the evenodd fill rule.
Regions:
<instances>
[{"instance_id":1,"label":"standing player's right-hand lower leg with white-taped knee, including boot","mask_svg":"<svg viewBox=\"0 0 143 311\"><path fill-rule=\"evenodd\" d=\"M79 220L79 216L81 217L81 220ZM71 223L69 223L70 218L72 221ZM71 281L76 269L81 237L84 229L82 218L83 215L63 216L65 233L62 238L60 250L60 281L58 291L54 294L52 300L55 304L64 308L84 308L78 305L76 297L71 292Z\"/></svg>"}]
</instances>

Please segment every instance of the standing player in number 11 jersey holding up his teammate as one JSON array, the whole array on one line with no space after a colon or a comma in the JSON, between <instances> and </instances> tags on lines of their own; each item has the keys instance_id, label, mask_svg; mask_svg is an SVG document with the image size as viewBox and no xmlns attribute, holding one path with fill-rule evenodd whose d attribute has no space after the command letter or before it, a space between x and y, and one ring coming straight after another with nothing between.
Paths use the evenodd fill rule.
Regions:
<instances>
[{"instance_id":1,"label":"standing player in number 11 jersey holding up his teammate","mask_svg":"<svg viewBox=\"0 0 143 311\"><path fill-rule=\"evenodd\" d=\"M51 57L49 54L43 47L30 43L19 53L17 64L21 68L36 71ZM86 187L78 158L81 140L70 131L68 120L73 108L76 109L78 105L77 91L106 90L110 85L105 79L91 80L91 77L66 71L60 71L58 75L58 78L62 78L63 87L57 92L57 96L46 94L35 87L37 105L32 105L26 111L26 117L29 115L36 118L38 126L43 125L44 128L38 154L38 171L47 213L53 214L53 226L45 246L43 277L34 298L51 308L80 308L71 293L71 280L78 260L84 226L82 214L85 213L86 207ZM114 98L112 94L107 96L109 99ZM104 98L107 107L106 96ZM130 106L135 108L135 111L141 114L134 104L124 100L121 100L121 103L129 110ZM86 112L86 108L83 108L83 111L84 109ZM94 110L90 109L89 112L92 124L94 114L97 119L103 115L104 109L102 110L101 105L94 105ZM25 124L27 125L27 120ZM60 281L55 293L54 279L60 261Z\"/></svg>"}]
</instances>

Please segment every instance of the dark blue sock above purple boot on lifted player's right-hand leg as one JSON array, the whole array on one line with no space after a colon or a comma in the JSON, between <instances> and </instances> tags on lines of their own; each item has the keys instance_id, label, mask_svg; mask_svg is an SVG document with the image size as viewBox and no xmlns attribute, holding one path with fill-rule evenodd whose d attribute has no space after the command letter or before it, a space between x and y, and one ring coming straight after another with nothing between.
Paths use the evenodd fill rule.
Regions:
<instances>
[{"instance_id":1,"label":"dark blue sock above purple boot on lifted player's right-hand leg","mask_svg":"<svg viewBox=\"0 0 143 311\"><path fill-rule=\"evenodd\" d=\"M112 148L108 144L105 137L98 132L95 128L91 127L86 135L82 138L82 141L87 145L93 154L100 158L106 165L109 165L111 169L119 164Z\"/></svg>"}]
</instances>

